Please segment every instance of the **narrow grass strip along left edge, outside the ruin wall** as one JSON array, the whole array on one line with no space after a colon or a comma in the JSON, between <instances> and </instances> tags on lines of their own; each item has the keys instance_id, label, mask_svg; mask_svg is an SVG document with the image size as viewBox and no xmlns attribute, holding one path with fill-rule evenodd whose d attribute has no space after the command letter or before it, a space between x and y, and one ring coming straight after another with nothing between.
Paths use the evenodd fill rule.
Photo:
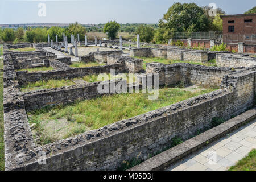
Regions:
<instances>
[{"instance_id":1,"label":"narrow grass strip along left edge, outside the ruin wall","mask_svg":"<svg viewBox=\"0 0 256 182\"><path fill-rule=\"evenodd\" d=\"M0 171L5 170L5 146L3 142L3 59L0 59Z\"/></svg>"}]
</instances>

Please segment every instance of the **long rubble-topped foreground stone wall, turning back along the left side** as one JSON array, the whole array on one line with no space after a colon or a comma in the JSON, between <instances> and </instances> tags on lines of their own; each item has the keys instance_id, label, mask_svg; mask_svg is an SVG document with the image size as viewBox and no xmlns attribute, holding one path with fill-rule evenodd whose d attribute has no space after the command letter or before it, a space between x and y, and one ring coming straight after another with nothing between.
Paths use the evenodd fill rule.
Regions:
<instances>
[{"instance_id":1,"label":"long rubble-topped foreground stone wall, turning back along the left side","mask_svg":"<svg viewBox=\"0 0 256 182\"><path fill-rule=\"evenodd\" d=\"M149 154L166 147L173 137L187 139L198 129L210 125L211 118L229 119L230 115L242 113L254 102L255 71L229 72L227 69L229 73L224 75L220 90L118 121L76 137L36 147L25 110L28 100L32 105L33 99L28 99L28 95L19 93L18 82L14 80L14 77L19 75L15 75L10 59L5 55L6 170L114 170L123 160L129 161L140 152L142 159L145 160ZM170 69L175 70L175 75L182 75L181 67L187 67L186 72L188 69L194 69L187 64L175 65ZM195 69L205 69L204 72L210 72L203 67ZM64 89L68 90L68 88ZM88 89L88 93L93 92L93 89L83 89ZM77 97L85 96L82 94L85 93L83 89L81 93L77 92L79 93ZM80 89L76 88L76 90ZM57 93L50 90L47 92L48 97L55 95L55 100L60 100ZM36 95L36 92L33 94ZM46 152L46 165L38 163L40 151Z\"/></svg>"}]
</instances>

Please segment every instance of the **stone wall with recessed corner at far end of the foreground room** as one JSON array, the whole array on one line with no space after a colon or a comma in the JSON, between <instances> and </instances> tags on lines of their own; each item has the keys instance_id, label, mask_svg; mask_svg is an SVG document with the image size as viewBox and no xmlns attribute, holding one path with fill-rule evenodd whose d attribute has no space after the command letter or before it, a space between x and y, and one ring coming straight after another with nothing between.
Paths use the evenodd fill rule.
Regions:
<instances>
[{"instance_id":1,"label":"stone wall with recessed corner at far end of the foreground room","mask_svg":"<svg viewBox=\"0 0 256 182\"><path fill-rule=\"evenodd\" d=\"M175 85L179 82L197 86L220 86L224 75L232 73L231 68L204 67L201 65L176 63L147 63L146 73L158 73L159 85Z\"/></svg>"}]
</instances>

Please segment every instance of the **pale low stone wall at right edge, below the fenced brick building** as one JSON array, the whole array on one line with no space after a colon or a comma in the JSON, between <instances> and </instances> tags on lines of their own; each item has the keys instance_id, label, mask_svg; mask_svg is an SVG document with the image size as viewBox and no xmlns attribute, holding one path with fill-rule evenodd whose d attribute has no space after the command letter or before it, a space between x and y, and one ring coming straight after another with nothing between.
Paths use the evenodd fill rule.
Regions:
<instances>
[{"instance_id":1,"label":"pale low stone wall at right edge, below the fenced brick building","mask_svg":"<svg viewBox=\"0 0 256 182\"><path fill-rule=\"evenodd\" d=\"M256 65L256 57L219 53L216 55L216 64L218 67L252 67Z\"/></svg>"}]
</instances>

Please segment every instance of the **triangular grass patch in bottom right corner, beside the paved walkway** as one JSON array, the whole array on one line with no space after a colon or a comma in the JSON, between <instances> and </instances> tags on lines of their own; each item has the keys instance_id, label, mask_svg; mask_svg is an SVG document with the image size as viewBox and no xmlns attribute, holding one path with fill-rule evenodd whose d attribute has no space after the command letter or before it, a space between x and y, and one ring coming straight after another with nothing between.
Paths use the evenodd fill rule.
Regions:
<instances>
[{"instance_id":1,"label":"triangular grass patch in bottom right corner, beside the paved walkway","mask_svg":"<svg viewBox=\"0 0 256 182\"><path fill-rule=\"evenodd\" d=\"M256 149L229 168L229 171L256 171Z\"/></svg>"}]
</instances>

